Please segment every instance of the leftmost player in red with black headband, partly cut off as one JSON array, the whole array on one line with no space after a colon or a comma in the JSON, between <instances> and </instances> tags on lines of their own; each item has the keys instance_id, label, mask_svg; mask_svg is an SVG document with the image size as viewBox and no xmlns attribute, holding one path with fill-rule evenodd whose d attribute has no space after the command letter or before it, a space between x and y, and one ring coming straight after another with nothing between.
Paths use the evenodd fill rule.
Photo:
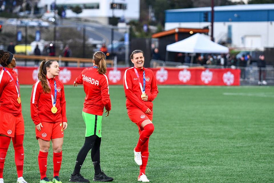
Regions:
<instances>
[{"instance_id":1,"label":"leftmost player in red with black headband, partly cut off","mask_svg":"<svg viewBox=\"0 0 274 183\"><path fill-rule=\"evenodd\" d=\"M17 169L17 183L27 183L23 179L24 162L24 120L17 73L13 70L16 61L9 51L0 50L0 183L9 143L13 143L14 160Z\"/></svg>"}]
</instances>

